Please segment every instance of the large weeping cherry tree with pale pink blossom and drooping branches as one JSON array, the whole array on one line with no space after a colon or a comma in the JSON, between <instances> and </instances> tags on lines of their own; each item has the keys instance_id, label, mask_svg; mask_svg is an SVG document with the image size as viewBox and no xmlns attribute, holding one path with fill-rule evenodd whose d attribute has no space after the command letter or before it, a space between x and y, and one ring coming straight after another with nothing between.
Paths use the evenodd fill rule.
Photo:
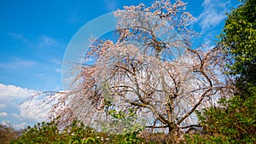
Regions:
<instances>
[{"instance_id":1,"label":"large weeping cherry tree with pale pink blossom and drooping branches","mask_svg":"<svg viewBox=\"0 0 256 144\"><path fill-rule=\"evenodd\" d=\"M161 0L117 10L117 40L93 40L70 95L58 100L53 116L100 129L102 122L113 124L113 133L146 124L174 140L195 124L195 110L228 96L228 89L223 49L191 48L195 32L185 5ZM131 122L132 112L137 120Z\"/></svg>"}]
</instances>

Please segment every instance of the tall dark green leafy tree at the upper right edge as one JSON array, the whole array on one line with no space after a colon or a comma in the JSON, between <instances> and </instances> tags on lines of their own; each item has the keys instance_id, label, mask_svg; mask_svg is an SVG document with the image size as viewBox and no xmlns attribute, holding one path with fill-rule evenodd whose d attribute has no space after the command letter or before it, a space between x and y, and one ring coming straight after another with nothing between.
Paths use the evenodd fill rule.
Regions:
<instances>
[{"instance_id":1,"label":"tall dark green leafy tree at the upper right edge","mask_svg":"<svg viewBox=\"0 0 256 144\"><path fill-rule=\"evenodd\" d=\"M256 1L242 2L228 14L221 43L231 58L230 74L238 76L236 86L247 92L252 84L256 86Z\"/></svg>"}]
</instances>

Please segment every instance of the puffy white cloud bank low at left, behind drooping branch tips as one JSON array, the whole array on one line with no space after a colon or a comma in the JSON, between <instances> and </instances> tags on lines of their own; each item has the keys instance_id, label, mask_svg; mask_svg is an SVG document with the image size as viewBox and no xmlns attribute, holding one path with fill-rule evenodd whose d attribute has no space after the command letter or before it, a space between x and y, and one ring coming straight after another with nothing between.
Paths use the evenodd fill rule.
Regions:
<instances>
[{"instance_id":1,"label":"puffy white cloud bank low at left, behind drooping branch tips","mask_svg":"<svg viewBox=\"0 0 256 144\"><path fill-rule=\"evenodd\" d=\"M45 95L44 95L45 94ZM15 128L23 128L28 124L40 123L48 119L49 109L55 101L48 95L15 85L0 84L0 118L4 117L2 124L13 124Z\"/></svg>"}]
</instances>

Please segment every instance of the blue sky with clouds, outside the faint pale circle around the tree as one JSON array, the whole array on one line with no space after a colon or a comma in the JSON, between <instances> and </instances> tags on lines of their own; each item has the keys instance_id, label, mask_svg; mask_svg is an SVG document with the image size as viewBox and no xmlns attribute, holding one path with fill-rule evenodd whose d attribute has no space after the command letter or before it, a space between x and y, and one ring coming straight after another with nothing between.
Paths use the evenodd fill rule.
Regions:
<instances>
[{"instance_id":1,"label":"blue sky with clouds, outside the faint pale circle around the tree","mask_svg":"<svg viewBox=\"0 0 256 144\"><path fill-rule=\"evenodd\" d=\"M61 62L73 35L90 20L125 5L152 0L2 0L0 1L0 124L22 128L44 120L20 102L37 91L62 89ZM211 47L236 0L184 0ZM34 101L36 104L38 101Z\"/></svg>"}]
</instances>

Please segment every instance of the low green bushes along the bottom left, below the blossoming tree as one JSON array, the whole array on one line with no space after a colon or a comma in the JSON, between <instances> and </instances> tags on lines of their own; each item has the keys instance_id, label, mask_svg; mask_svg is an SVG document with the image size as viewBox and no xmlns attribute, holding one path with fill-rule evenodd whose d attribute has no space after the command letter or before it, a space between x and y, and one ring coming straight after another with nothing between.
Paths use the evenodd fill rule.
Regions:
<instances>
[{"instance_id":1,"label":"low green bushes along the bottom left, below the blossoming tree","mask_svg":"<svg viewBox=\"0 0 256 144\"><path fill-rule=\"evenodd\" d=\"M125 135L108 135L98 132L83 123L74 120L73 124L67 125L64 129L58 128L59 121L42 122L28 127L23 131L19 140L11 141L12 144L25 143L68 143L68 144L101 144L101 143L145 143L143 138L137 137L137 132L126 133Z\"/></svg>"}]
</instances>

